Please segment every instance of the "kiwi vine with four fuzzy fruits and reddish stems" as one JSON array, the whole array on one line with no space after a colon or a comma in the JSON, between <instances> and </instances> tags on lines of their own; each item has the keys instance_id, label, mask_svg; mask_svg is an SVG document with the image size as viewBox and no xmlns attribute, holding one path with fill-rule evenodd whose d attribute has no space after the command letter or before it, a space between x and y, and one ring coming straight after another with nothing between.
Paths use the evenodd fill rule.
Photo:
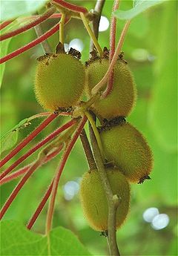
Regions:
<instances>
[{"instance_id":1,"label":"kiwi vine with four fuzzy fruits and reddish stems","mask_svg":"<svg viewBox=\"0 0 178 256\"><path fill-rule=\"evenodd\" d=\"M105 1L96 1L94 11L88 11L85 7L67 1L53 0L47 4L44 13L32 16L30 23L1 36L1 40L5 40L36 25L40 26L46 19L59 19L54 27L33 42L1 58L1 63L4 63L30 47L44 42L59 30L56 50L53 53L45 52L44 56L39 56L36 60L34 91L37 101L47 111L41 114L41 117L46 119L1 160L1 168L54 119L69 116L70 120L22 154L22 157L8 168L2 169L1 185L18 177L22 179L4 203L0 218L4 216L34 171L63 151L56 174L27 223L27 228L31 229L49 199L45 224L46 234L49 234L59 180L70 151L80 137L89 168L81 182L82 208L88 224L108 238L110 255L119 255L116 230L122 226L128 215L130 183L141 184L145 180L151 180L149 175L153 168L153 156L145 137L126 121L136 105L136 85L129 63L124 59L122 52L131 21L125 23L115 47L116 18L111 16L110 49L104 47L102 50L97 38L104 4ZM119 8L119 4L119 0L113 2L113 11ZM90 36L90 58L85 63L81 62L81 53L78 50L70 48L65 51L65 24L72 18L81 19ZM7 27L8 24L10 23L1 24L1 27ZM87 100L84 100L84 94L88 97ZM88 122L90 140L85 132ZM30 125L30 122L27 124ZM39 148L42 149L33 163L11 173Z\"/></svg>"}]
</instances>

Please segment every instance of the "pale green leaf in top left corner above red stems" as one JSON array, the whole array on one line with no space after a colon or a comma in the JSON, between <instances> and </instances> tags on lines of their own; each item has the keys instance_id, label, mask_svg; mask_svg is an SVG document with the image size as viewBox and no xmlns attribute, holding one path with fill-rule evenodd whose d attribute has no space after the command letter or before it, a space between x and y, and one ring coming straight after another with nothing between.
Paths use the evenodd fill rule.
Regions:
<instances>
[{"instance_id":1,"label":"pale green leaf in top left corner above red stems","mask_svg":"<svg viewBox=\"0 0 178 256\"><path fill-rule=\"evenodd\" d=\"M1 21L34 13L46 2L47 0L1 1Z\"/></svg>"}]
</instances>

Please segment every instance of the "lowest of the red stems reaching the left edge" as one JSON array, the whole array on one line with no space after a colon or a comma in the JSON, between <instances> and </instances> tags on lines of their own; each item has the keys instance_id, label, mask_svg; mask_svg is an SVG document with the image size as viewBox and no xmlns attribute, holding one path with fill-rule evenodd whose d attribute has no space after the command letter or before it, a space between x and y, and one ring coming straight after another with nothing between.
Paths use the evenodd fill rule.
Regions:
<instances>
[{"instance_id":1,"label":"lowest of the red stems reaching the left edge","mask_svg":"<svg viewBox=\"0 0 178 256\"><path fill-rule=\"evenodd\" d=\"M13 200L16 198L16 195L19 193L22 186L24 186L24 183L26 183L28 178L33 174L34 171L36 171L37 168L39 168L40 165L42 165L42 159L37 160L36 163L30 167L29 171L27 171L27 174L22 177L22 180L20 180L16 188L14 188L13 192L10 194L10 197L8 197L6 203L4 203L4 206L0 211L0 220L4 216L7 209L10 207L11 203L13 203Z\"/></svg>"}]
</instances>

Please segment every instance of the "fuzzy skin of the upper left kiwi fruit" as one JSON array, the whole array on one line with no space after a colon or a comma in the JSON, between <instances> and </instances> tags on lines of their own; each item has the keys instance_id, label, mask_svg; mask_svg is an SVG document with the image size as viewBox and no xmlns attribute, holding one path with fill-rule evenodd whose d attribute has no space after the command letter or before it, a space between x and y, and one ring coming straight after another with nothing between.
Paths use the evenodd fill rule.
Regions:
<instances>
[{"instance_id":1,"label":"fuzzy skin of the upper left kiwi fruit","mask_svg":"<svg viewBox=\"0 0 178 256\"><path fill-rule=\"evenodd\" d=\"M36 98L43 108L69 108L82 96L85 68L70 54L51 54L39 60L35 80Z\"/></svg>"}]
</instances>

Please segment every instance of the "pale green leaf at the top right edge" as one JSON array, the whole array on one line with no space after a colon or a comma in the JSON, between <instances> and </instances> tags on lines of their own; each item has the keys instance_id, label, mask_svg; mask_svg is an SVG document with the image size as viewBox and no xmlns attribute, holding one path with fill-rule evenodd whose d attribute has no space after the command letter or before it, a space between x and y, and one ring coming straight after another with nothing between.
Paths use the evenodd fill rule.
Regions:
<instances>
[{"instance_id":1,"label":"pale green leaf at the top right edge","mask_svg":"<svg viewBox=\"0 0 178 256\"><path fill-rule=\"evenodd\" d=\"M130 10L116 10L113 15L118 19L133 19L139 13L148 10L148 8L153 7L156 4L161 4L165 0L136 0L133 2L133 8Z\"/></svg>"}]
</instances>

